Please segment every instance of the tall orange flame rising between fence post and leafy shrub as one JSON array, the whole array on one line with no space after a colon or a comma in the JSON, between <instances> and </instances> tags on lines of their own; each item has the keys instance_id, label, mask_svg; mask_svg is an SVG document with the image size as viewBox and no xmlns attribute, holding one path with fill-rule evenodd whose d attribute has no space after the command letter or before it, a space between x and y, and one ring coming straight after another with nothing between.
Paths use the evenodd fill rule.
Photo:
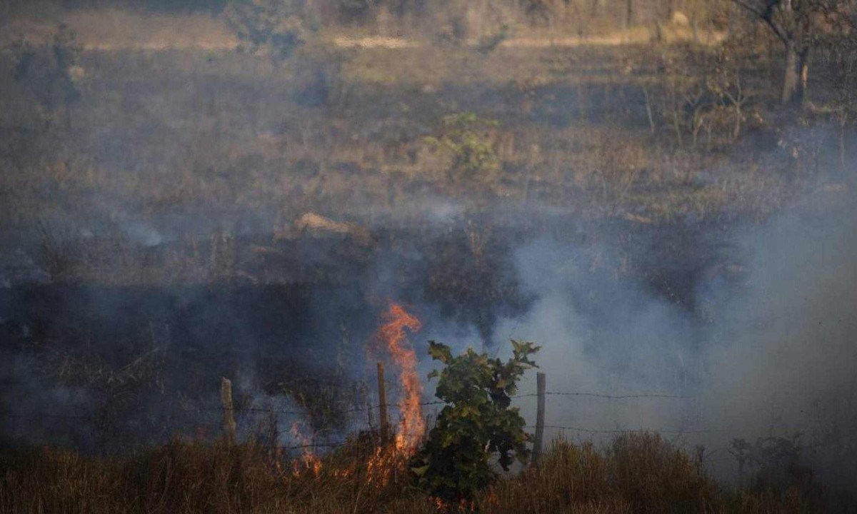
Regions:
<instances>
[{"instance_id":1,"label":"tall orange flame rising between fence post and leafy shrub","mask_svg":"<svg viewBox=\"0 0 857 514\"><path fill-rule=\"evenodd\" d=\"M423 394L423 384L417 374L417 354L406 345L405 328L417 332L422 324L420 320L405 311L405 308L390 303L390 309L384 314L386 323L378 330L378 338L387 345L393 362L399 366L402 388L405 394L399 400L402 419L399 423L399 433L396 434L396 448L400 451L411 452L417 448L425 433L425 420L420 398Z\"/></svg>"}]
</instances>

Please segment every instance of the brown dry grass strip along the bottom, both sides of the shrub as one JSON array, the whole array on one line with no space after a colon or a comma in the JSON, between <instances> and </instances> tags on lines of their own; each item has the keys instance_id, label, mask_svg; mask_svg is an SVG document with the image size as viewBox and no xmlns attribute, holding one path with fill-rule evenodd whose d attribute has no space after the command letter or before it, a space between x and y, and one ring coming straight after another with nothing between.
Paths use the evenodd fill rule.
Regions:
<instances>
[{"instance_id":1,"label":"brown dry grass strip along the bottom, both sides of the shrub","mask_svg":"<svg viewBox=\"0 0 857 514\"><path fill-rule=\"evenodd\" d=\"M406 454L379 448L378 440L352 436L311 469L300 454L253 443L175 439L114 457L6 449L0 511L437 512L433 499L410 487ZM620 435L602 450L555 441L541 467L501 479L477 504L498 513L812 510L797 491L725 491L654 434Z\"/></svg>"}]
</instances>

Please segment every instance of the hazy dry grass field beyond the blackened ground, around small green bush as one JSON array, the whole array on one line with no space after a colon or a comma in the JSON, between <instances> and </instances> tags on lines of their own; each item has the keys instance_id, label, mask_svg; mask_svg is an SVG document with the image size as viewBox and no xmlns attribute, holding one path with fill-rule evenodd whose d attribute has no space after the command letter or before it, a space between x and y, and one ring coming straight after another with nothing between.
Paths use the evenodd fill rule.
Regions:
<instances>
[{"instance_id":1,"label":"hazy dry grass field beyond the blackened ground, around small green bush","mask_svg":"<svg viewBox=\"0 0 857 514\"><path fill-rule=\"evenodd\" d=\"M805 182L830 180L824 141L796 157L777 146L797 136L764 97L747 108L746 142L727 137L728 119L697 135L674 127L661 62L633 45L333 51L282 68L230 51L86 51L68 126L39 118L60 116L38 114L50 91L3 86L4 219L48 217L53 200L82 207L93 194L144 216L213 206L365 216L443 197L764 218ZM482 135L499 166L461 188L424 138L469 111L499 122Z\"/></svg>"}]
</instances>

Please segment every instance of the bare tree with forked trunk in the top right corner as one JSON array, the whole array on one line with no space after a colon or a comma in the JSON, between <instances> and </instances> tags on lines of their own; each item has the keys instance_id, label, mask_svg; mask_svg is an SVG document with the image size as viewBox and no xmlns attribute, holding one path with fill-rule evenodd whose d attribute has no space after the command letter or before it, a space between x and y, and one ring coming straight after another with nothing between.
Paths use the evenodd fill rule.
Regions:
<instances>
[{"instance_id":1,"label":"bare tree with forked trunk in the top right corner","mask_svg":"<svg viewBox=\"0 0 857 514\"><path fill-rule=\"evenodd\" d=\"M786 51L782 78L783 105L801 105L806 99L809 58L819 32L831 27L830 18L853 9L853 0L732 0L764 21Z\"/></svg>"}]
</instances>

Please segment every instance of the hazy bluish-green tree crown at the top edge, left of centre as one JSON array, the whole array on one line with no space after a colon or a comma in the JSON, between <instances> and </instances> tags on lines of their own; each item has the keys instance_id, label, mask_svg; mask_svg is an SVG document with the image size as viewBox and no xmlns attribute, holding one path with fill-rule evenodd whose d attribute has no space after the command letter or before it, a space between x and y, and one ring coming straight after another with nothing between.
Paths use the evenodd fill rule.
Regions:
<instances>
[{"instance_id":1,"label":"hazy bluish-green tree crown at the top edge, left of centre","mask_svg":"<svg viewBox=\"0 0 857 514\"><path fill-rule=\"evenodd\" d=\"M307 42L311 24L295 0L236 0L224 11L229 27L241 42L239 48L255 53L266 50L274 62L291 57Z\"/></svg>"}]
</instances>

